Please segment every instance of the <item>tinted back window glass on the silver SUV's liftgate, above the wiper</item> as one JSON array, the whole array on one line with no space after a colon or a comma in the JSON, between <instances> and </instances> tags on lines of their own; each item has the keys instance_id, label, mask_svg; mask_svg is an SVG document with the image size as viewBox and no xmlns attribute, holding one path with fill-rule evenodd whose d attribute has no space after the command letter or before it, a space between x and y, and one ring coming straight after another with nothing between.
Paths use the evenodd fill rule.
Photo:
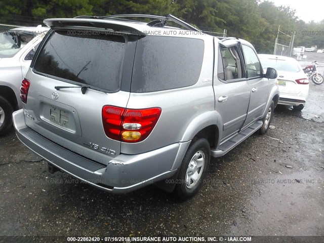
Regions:
<instances>
[{"instance_id":1,"label":"tinted back window glass on the silver SUV's liftgate, above the wiper","mask_svg":"<svg viewBox=\"0 0 324 243\"><path fill-rule=\"evenodd\" d=\"M34 70L106 91L117 91L125 38L77 33L53 31L35 61Z\"/></svg>"}]
</instances>

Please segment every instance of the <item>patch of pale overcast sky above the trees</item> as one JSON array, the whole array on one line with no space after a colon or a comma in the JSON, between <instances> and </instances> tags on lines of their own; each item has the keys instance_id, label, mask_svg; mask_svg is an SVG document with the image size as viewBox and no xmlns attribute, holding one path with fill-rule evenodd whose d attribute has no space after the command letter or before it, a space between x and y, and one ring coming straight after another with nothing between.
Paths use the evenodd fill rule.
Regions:
<instances>
[{"instance_id":1,"label":"patch of pale overcast sky above the trees","mask_svg":"<svg viewBox=\"0 0 324 243\"><path fill-rule=\"evenodd\" d=\"M296 9L296 15L306 23L314 20L319 22L324 19L324 1L323 0L270 0L276 6L288 6Z\"/></svg>"}]
</instances>

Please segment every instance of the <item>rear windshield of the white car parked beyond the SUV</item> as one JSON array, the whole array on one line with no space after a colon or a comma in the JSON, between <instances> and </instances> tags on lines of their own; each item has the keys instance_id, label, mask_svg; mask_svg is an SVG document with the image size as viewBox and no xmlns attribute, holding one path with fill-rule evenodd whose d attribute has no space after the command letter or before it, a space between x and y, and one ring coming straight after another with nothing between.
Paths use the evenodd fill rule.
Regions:
<instances>
[{"instance_id":1,"label":"rear windshield of the white car parked beyond the SUV","mask_svg":"<svg viewBox=\"0 0 324 243\"><path fill-rule=\"evenodd\" d=\"M298 66L298 63L296 63L296 61L294 60L261 58L260 61L264 69L267 69L268 67L272 67L277 69L277 71L286 71L286 72L300 71L300 67Z\"/></svg>"}]
</instances>

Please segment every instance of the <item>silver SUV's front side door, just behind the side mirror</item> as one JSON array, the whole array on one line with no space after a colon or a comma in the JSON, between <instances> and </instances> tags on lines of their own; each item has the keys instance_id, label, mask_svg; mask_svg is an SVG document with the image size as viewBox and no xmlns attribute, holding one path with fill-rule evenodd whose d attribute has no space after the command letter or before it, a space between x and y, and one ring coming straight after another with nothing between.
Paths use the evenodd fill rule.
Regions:
<instances>
[{"instance_id":1,"label":"silver SUV's front side door, just behind the side mirror","mask_svg":"<svg viewBox=\"0 0 324 243\"><path fill-rule=\"evenodd\" d=\"M253 48L243 44L242 50L245 56L246 76L249 79L248 85L251 92L248 115L244 124L244 127L246 127L255 120L261 119L270 95L270 81L263 77L260 61Z\"/></svg>"}]
</instances>

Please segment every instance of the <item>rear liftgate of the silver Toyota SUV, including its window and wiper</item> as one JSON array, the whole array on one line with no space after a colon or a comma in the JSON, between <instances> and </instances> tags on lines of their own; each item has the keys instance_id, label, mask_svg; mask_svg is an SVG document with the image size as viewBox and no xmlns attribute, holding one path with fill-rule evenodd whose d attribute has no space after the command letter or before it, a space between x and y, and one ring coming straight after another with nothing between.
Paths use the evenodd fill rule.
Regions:
<instances>
[{"instance_id":1,"label":"rear liftgate of the silver Toyota SUV, including its window and wiper","mask_svg":"<svg viewBox=\"0 0 324 243\"><path fill-rule=\"evenodd\" d=\"M130 84L133 65L124 64L134 59L134 43L131 36L120 34L51 30L26 75L30 88L25 109L31 115L25 117L27 126L107 164L107 155L120 153L120 142L105 135L102 108L127 105L129 87L121 83L123 79Z\"/></svg>"}]
</instances>

